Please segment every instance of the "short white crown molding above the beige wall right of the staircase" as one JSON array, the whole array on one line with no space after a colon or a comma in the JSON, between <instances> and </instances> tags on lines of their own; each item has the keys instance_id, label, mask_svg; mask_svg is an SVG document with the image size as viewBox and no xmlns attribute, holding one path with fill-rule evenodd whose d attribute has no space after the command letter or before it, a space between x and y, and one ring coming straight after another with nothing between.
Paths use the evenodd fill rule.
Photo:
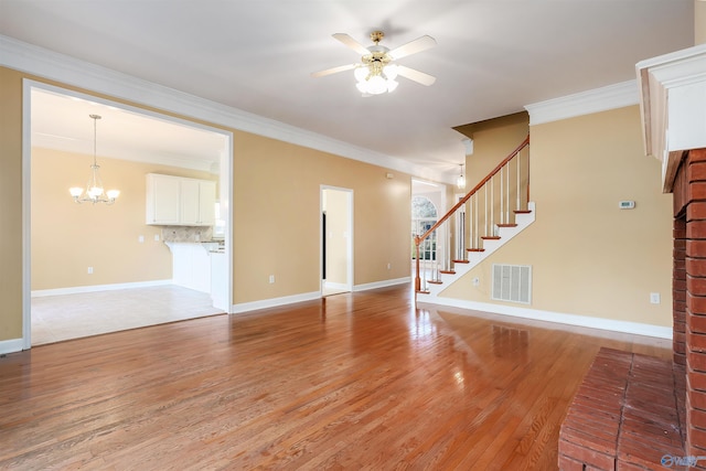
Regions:
<instances>
[{"instance_id":1,"label":"short white crown molding above the beige wall right of the staircase","mask_svg":"<svg viewBox=\"0 0 706 471\"><path fill-rule=\"evenodd\" d=\"M530 113L530 126L535 126L607 111L609 109L623 108L625 106L638 105L639 103L640 94L638 83L637 81L628 81L548 99L546 101L534 103L526 105L525 109Z\"/></svg>"}]
</instances>

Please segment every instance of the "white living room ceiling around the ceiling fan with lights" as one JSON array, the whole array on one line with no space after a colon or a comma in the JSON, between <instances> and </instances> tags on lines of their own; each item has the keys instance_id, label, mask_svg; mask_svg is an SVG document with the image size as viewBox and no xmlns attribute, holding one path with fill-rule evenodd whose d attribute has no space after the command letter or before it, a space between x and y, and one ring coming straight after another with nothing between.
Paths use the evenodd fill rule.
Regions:
<instances>
[{"instance_id":1,"label":"white living room ceiling around the ceiling fan with lights","mask_svg":"<svg viewBox=\"0 0 706 471\"><path fill-rule=\"evenodd\" d=\"M435 38L436 47L398 63L436 83L400 77L394 93L362 97L351 71L311 77L360 60L333 33L367 46L376 29L391 49ZM694 1L0 0L0 34L456 174L464 137L453 127L634 79L637 62L693 45ZM93 137L86 109L74 115L67 107L79 101L53 98L38 107L62 119L45 119L33 138L85 147L86 132ZM60 105L61 113L49 109ZM185 159L223 151L222 138L207 150L202 130L194 146L174 144L160 138L163 120L110 119L98 124L99 139L113 126L132 139L116 147L137 142ZM178 133L190 136L183 127Z\"/></svg>"}]
</instances>

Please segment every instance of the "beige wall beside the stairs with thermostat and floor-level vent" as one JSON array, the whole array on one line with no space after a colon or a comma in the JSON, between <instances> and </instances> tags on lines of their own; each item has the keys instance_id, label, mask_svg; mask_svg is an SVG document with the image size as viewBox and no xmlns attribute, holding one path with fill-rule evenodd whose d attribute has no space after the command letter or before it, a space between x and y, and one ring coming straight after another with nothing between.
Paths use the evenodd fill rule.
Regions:
<instances>
[{"instance_id":1,"label":"beige wall beside the stairs with thermostat and floor-level vent","mask_svg":"<svg viewBox=\"0 0 706 471\"><path fill-rule=\"evenodd\" d=\"M672 195L640 126L638 106L533 126L536 221L441 296L671 328ZM492 264L533 267L530 306L490 299Z\"/></svg>"}]
</instances>

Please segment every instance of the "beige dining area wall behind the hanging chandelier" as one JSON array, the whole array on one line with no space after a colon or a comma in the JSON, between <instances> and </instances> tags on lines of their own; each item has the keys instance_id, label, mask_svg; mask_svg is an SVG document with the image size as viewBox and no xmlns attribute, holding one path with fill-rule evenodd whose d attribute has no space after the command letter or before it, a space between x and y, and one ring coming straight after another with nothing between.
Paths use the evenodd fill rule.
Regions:
<instances>
[{"instance_id":1,"label":"beige dining area wall behind the hanging chandelier","mask_svg":"<svg viewBox=\"0 0 706 471\"><path fill-rule=\"evenodd\" d=\"M98 156L106 189L120 190L120 196L110 206L76 204L67 189L85 184L92 159L32 149L32 290L171 279L171 253L161 242L161 227L145 224L145 175L217 179L207 172Z\"/></svg>"}]
</instances>

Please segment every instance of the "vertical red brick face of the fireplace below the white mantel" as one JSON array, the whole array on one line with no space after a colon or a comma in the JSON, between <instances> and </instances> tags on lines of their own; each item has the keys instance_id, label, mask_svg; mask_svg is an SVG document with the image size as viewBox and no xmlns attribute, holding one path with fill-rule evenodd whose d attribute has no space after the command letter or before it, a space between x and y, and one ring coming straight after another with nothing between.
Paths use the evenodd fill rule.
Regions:
<instances>
[{"instance_id":1,"label":"vertical red brick face of the fireplace below the white mantel","mask_svg":"<svg viewBox=\"0 0 706 471\"><path fill-rule=\"evenodd\" d=\"M706 456L706 149L680 167L674 217L674 363L686 371L685 451L698 457Z\"/></svg>"}]
</instances>

